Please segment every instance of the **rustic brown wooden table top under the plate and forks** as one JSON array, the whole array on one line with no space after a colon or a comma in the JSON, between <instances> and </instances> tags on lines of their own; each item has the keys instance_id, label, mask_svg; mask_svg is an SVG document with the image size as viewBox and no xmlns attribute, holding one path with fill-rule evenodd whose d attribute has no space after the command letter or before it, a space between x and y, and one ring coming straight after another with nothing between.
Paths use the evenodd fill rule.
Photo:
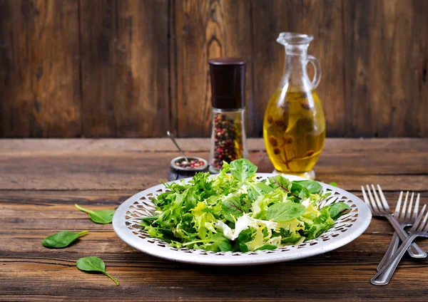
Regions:
<instances>
[{"instance_id":1,"label":"rustic brown wooden table top under the plate and forks","mask_svg":"<svg viewBox=\"0 0 428 302\"><path fill-rule=\"evenodd\" d=\"M208 158L207 139L180 140ZM271 172L263 140L249 140L250 160ZM392 227L372 219L355 241L335 251L280 264L213 267L179 264L143 254L118 239L111 224L93 224L73 204L113 209L165 179L173 144L156 140L0 140L0 301L426 301L428 260L409 256L389 286L370 278L387 249ZM427 139L327 139L317 180L361 197L362 184L382 184L390 204L400 190L428 203ZM41 239L61 230L91 230L66 249ZM428 250L428 241L419 241ZM76 269L99 256L120 281Z\"/></svg>"}]
</instances>

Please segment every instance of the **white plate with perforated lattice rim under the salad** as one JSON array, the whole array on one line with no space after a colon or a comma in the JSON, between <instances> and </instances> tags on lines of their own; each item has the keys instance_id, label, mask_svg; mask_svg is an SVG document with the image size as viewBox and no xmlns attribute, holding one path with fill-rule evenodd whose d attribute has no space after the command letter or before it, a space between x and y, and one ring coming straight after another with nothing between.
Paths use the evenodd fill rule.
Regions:
<instances>
[{"instance_id":1,"label":"white plate with perforated lattice rim under the salad","mask_svg":"<svg viewBox=\"0 0 428 302\"><path fill-rule=\"evenodd\" d=\"M259 179L266 179L271 176L271 173L257 173ZM292 175L284 176L291 181L303 179ZM184 180L188 181L190 179ZM351 211L337 219L331 229L317 239L305 241L302 244L285 246L273 251L249 251L247 253L227 251L215 253L213 251L175 249L172 246L168 246L165 241L144 233L141 231L139 222L141 217L152 216L155 206L151 199L168 191L163 184L139 192L126 200L126 202L123 202L114 214L113 229L119 238L135 249L159 258L190 264L242 266L307 258L338 249L350 243L367 229L372 219L370 209L360 198L337 187L320 184L323 191L332 193L330 197L321 202L320 207L340 201L349 204Z\"/></svg>"}]
</instances>

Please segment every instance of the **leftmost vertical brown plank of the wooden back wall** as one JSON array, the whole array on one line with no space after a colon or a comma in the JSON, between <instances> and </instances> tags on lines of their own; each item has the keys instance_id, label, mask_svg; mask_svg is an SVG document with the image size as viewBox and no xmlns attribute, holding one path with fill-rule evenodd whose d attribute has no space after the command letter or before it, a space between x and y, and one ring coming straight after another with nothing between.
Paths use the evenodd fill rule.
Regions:
<instances>
[{"instance_id":1,"label":"leftmost vertical brown plank of the wooden back wall","mask_svg":"<svg viewBox=\"0 0 428 302\"><path fill-rule=\"evenodd\" d=\"M81 133L78 2L0 1L0 136Z\"/></svg>"}]
</instances>

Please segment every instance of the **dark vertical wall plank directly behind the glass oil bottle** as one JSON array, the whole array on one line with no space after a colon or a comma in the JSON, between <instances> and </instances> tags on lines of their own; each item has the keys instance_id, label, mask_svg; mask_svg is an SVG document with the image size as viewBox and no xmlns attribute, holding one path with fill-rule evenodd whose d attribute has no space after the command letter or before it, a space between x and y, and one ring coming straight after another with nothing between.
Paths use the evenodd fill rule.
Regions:
<instances>
[{"instance_id":1,"label":"dark vertical wall plank directly behind the glass oil bottle","mask_svg":"<svg viewBox=\"0 0 428 302\"><path fill-rule=\"evenodd\" d=\"M276 42L282 31L314 36L309 54L321 63L317 93L325 110L327 135L342 136L345 124L343 82L342 1L253 1L255 102L252 123L262 135L263 114L278 89L284 70L284 47ZM309 67L310 69L312 67Z\"/></svg>"}]
</instances>

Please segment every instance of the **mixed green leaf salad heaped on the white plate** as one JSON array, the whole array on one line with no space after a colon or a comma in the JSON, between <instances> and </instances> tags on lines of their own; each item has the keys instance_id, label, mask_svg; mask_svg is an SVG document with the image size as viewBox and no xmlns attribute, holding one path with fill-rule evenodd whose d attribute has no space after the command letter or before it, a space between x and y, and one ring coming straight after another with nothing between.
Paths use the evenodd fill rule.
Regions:
<instances>
[{"instance_id":1,"label":"mixed green leaf salad heaped on the white plate","mask_svg":"<svg viewBox=\"0 0 428 302\"><path fill-rule=\"evenodd\" d=\"M259 181L257 166L241 159L223 163L220 174L198 173L188 182L165 184L153 198L155 215L143 231L171 246L207 251L258 251L317 238L349 206L318 207L330 193L312 180L277 175Z\"/></svg>"}]
</instances>

